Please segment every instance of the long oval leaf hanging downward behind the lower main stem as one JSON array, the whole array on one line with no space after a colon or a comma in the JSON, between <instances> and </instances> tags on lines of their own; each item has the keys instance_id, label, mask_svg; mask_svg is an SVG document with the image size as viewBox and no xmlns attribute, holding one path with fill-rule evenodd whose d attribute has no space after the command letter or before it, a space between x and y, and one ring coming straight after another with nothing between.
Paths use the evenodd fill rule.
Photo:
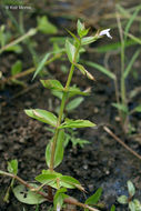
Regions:
<instances>
[{"instance_id":1,"label":"long oval leaf hanging downward behind the lower main stem","mask_svg":"<svg viewBox=\"0 0 141 211\"><path fill-rule=\"evenodd\" d=\"M64 151L63 142L64 142L64 131L60 130L58 140L57 140L56 153L54 153L54 163L53 163L54 168L58 167L62 162L63 151ZM50 141L50 143L47 145L47 149L46 149L46 162L48 167L50 167L51 144L52 144L52 140Z\"/></svg>"}]
</instances>

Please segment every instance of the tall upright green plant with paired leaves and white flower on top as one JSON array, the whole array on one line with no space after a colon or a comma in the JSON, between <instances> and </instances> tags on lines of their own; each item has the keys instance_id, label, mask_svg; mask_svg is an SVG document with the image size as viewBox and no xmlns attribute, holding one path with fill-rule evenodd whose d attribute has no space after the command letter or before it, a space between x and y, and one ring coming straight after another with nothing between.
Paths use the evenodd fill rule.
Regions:
<instances>
[{"instance_id":1,"label":"tall upright green plant with paired leaves and white flower on top","mask_svg":"<svg viewBox=\"0 0 141 211\"><path fill-rule=\"evenodd\" d=\"M63 159L64 138L67 137L66 130L95 127L95 124L89 120L73 120L66 118L64 109L67 108L67 102L70 97L85 96L85 92L81 91L78 87L71 86L74 71L79 70L88 79L94 80L93 76L88 70L85 70L82 64L79 63L81 48L85 44L97 41L104 34L108 37L110 34L109 30L103 30L101 32L98 31L94 36L85 37L89 32L89 29L85 29L84 24L80 21L78 21L77 31L78 37L68 30L68 32L73 38L73 43L67 39L66 48L63 50L67 53L71 64L66 86L56 79L41 80L41 83L44 88L62 93L58 117L54 113L42 109L24 110L27 115L50 125L53 130L53 137L47 144L46 149L46 162L48 169L42 170L41 174L36 177L36 181L39 182L40 185L37 183L28 183L11 171L10 173L0 171L0 174L11 177L21 183L21 185L17 185L16 188L12 188L12 190L16 198L23 203L40 204L44 201L50 201L53 203L53 208L57 211L60 211L64 203L82 207L85 211L98 211L98 209L92 207L97 205L101 195L101 189L90 197L85 203L80 203L78 200L69 197L67 191L68 189L79 189L80 191L84 191L82 184L77 179L70 175L63 175L54 170ZM33 78L40 72L41 67L43 67L49 56L49 53L46 54L46 59L41 61L41 64L38 67ZM14 169L14 167L12 168ZM48 187L48 194L43 189L44 187ZM114 210L114 207L112 207L111 210Z\"/></svg>"}]
</instances>

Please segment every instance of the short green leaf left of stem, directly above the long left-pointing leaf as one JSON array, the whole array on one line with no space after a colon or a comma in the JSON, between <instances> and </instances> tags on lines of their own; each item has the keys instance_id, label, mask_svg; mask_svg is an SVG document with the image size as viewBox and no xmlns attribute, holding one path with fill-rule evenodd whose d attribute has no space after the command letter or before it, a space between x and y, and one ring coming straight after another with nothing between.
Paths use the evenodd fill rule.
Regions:
<instances>
[{"instance_id":1,"label":"short green leaf left of stem, directly above the long left-pointing leaf","mask_svg":"<svg viewBox=\"0 0 141 211\"><path fill-rule=\"evenodd\" d=\"M58 80L40 80L44 88L63 91L63 86Z\"/></svg>"}]
</instances>

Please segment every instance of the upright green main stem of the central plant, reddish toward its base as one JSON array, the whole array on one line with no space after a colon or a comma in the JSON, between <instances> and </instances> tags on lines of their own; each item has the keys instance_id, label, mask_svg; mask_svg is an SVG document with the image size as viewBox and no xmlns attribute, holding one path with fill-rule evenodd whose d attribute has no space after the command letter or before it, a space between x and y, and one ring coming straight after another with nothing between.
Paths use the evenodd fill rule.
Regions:
<instances>
[{"instance_id":1,"label":"upright green main stem of the central plant, reddish toward its base","mask_svg":"<svg viewBox=\"0 0 141 211\"><path fill-rule=\"evenodd\" d=\"M59 131L60 131L59 127L60 127L61 121L62 121L64 105L66 105L66 101L67 101L67 97L68 97L68 90L69 90L70 82L71 82L71 79L72 79L72 76L73 76L74 63L77 62L77 57L78 57L78 53L79 53L80 46L81 46L81 40L80 40L80 43L79 43L79 46L78 46L78 48L75 50L74 60L73 60L73 63L71 64L69 77L68 77L66 88L64 88L64 92L63 92L63 96L62 96L62 101L61 101L61 107L60 107L60 112L59 112L59 118L58 118L58 124L57 124L57 128L56 128L56 131L54 131L52 144L51 144L50 171L53 171L57 140L58 140L58 134L59 134Z\"/></svg>"}]
</instances>

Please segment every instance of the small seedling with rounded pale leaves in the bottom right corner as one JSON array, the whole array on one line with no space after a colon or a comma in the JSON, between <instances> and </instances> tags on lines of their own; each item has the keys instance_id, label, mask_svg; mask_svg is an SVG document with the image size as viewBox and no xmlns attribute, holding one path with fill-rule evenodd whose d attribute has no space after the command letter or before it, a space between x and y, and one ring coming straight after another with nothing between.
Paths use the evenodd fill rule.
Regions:
<instances>
[{"instance_id":1,"label":"small seedling with rounded pale leaves in the bottom right corner","mask_svg":"<svg viewBox=\"0 0 141 211\"><path fill-rule=\"evenodd\" d=\"M133 199L135 194L135 188L130 180L128 181L128 191L129 191L129 197L121 195L118 198L118 202L121 204L128 204L129 210L131 211L141 211L140 201L138 199Z\"/></svg>"}]
</instances>

